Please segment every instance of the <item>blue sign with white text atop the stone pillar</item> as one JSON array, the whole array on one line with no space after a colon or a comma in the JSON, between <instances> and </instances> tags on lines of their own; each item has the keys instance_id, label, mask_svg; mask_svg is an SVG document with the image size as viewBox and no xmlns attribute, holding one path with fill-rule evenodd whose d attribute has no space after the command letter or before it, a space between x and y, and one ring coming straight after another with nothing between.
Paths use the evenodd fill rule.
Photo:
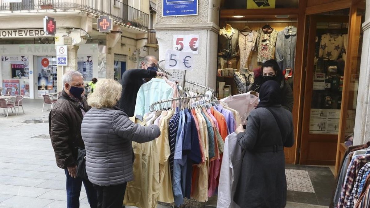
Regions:
<instances>
[{"instance_id":1,"label":"blue sign with white text atop the stone pillar","mask_svg":"<svg viewBox=\"0 0 370 208\"><path fill-rule=\"evenodd\" d=\"M163 17L198 15L198 0L163 0Z\"/></svg>"}]
</instances>

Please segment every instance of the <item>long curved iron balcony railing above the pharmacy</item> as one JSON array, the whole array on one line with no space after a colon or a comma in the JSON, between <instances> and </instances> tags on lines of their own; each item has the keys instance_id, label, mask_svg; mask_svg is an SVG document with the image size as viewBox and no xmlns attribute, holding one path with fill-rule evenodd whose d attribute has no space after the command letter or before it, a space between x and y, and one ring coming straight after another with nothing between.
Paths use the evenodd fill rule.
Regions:
<instances>
[{"instance_id":1,"label":"long curved iron balcony railing above the pharmacy","mask_svg":"<svg viewBox=\"0 0 370 208\"><path fill-rule=\"evenodd\" d=\"M148 14L119 0L23 0L21 3L4 3L0 0L0 11L40 9L81 9L109 15L116 21L148 30Z\"/></svg>"}]
</instances>

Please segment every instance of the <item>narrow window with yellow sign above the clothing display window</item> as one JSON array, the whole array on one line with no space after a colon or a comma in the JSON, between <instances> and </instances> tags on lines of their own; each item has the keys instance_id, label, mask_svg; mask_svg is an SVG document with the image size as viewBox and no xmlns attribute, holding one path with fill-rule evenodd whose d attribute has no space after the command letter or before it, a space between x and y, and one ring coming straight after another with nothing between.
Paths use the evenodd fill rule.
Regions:
<instances>
[{"instance_id":1,"label":"narrow window with yellow sign above the clothing display window","mask_svg":"<svg viewBox=\"0 0 370 208\"><path fill-rule=\"evenodd\" d=\"M221 9L271 9L298 8L299 0L222 0Z\"/></svg>"}]
</instances>

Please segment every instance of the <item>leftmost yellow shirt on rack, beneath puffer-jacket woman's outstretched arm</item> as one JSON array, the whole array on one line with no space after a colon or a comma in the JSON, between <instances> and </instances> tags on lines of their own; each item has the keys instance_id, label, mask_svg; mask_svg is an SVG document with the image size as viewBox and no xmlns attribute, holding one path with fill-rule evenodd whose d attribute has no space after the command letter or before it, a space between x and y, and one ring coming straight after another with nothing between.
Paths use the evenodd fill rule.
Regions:
<instances>
[{"instance_id":1,"label":"leftmost yellow shirt on rack, beneath puffer-jacket woman's outstretched arm","mask_svg":"<svg viewBox=\"0 0 370 208\"><path fill-rule=\"evenodd\" d=\"M146 121L135 120L144 125ZM124 205L141 208L157 207L159 194L159 153L156 140L139 144L132 142L135 161L132 165L134 180L127 183Z\"/></svg>"}]
</instances>

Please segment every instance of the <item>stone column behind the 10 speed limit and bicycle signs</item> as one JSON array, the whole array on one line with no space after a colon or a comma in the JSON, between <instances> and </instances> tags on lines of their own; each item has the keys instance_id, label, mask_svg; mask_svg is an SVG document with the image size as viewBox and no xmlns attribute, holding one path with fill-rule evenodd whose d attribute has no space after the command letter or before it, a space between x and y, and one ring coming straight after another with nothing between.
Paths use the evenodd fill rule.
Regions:
<instances>
[{"instance_id":1,"label":"stone column behind the 10 speed limit and bicycle signs","mask_svg":"<svg viewBox=\"0 0 370 208\"><path fill-rule=\"evenodd\" d=\"M57 88L58 92L63 90L63 74L66 71L74 70L77 71L77 51L79 46L70 45L67 47L68 56L67 56L67 66L58 66L57 67ZM63 69L62 69L63 68Z\"/></svg>"}]
</instances>

